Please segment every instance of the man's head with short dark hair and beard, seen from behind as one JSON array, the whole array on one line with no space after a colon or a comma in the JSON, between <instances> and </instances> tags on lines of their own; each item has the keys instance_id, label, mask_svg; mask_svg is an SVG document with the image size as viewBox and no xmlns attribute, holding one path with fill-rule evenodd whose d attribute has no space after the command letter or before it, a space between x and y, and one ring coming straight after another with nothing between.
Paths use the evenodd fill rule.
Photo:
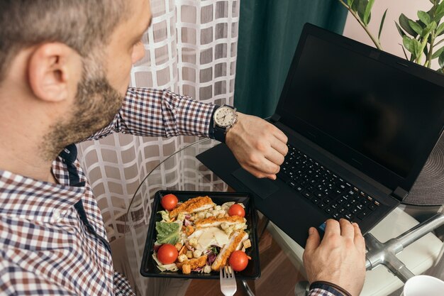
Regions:
<instances>
[{"instance_id":1,"label":"man's head with short dark hair and beard, seen from behind","mask_svg":"<svg viewBox=\"0 0 444 296\"><path fill-rule=\"evenodd\" d=\"M0 1L0 104L48 124L53 157L116 114L150 19L148 0Z\"/></svg>"}]
</instances>

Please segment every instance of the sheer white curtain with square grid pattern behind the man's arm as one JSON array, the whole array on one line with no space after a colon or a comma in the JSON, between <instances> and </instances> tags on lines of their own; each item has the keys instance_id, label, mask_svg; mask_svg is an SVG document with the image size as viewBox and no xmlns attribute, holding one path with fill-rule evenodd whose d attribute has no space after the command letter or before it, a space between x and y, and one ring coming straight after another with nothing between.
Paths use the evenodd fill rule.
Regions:
<instances>
[{"instance_id":1,"label":"sheer white curtain with square grid pattern behind the man's arm","mask_svg":"<svg viewBox=\"0 0 444 296\"><path fill-rule=\"evenodd\" d=\"M131 86L233 104L239 4L240 0L151 0L152 26L143 37L146 53L131 71ZM110 241L123 235L126 211L143 177L195 140L113 134L79 144L79 159Z\"/></svg>"}]
</instances>

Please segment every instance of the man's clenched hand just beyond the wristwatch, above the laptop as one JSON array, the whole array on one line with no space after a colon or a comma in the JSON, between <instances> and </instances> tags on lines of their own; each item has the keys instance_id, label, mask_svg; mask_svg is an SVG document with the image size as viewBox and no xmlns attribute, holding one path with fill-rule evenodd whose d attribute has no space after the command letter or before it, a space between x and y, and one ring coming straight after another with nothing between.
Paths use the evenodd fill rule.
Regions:
<instances>
[{"instance_id":1,"label":"man's clenched hand just beyond the wristwatch, above the laptop","mask_svg":"<svg viewBox=\"0 0 444 296\"><path fill-rule=\"evenodd\" d=\"M256 116L238 112L238 122L228 130L226 144L242 168L255 177L276 179L288 152L287 136Z\"/></svg>"}]
</instances>

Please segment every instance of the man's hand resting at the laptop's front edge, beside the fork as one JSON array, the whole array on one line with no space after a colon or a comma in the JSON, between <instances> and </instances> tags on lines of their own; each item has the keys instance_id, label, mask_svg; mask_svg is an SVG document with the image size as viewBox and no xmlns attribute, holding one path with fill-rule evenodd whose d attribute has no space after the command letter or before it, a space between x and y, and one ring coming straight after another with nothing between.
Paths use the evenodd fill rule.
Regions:
<instances>
[{"instance_id":1,"label":"man's hand resting at the laptop's front edge, beside the fork","mask_svg":"<svg viewBox=\"0 0 444 296\"><path fill-rule=\"evenodd\" d=\"M330 282L359 295L365 279L365 241L359 226L345 219L328 219L320 240L318 231L311 227L304 251L309 282Z\"/></svg>"}]
</instances>

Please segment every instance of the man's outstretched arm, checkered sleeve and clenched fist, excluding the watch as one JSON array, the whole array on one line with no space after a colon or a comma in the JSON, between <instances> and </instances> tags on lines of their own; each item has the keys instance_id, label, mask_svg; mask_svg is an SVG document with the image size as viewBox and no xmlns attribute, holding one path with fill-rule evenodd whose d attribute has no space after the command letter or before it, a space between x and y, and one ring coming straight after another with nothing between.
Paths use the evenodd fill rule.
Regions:
<instances>
[{"instance_id":1,"label":"man's outstretched arm, checkered sleeve and clenched fist, excluding the watch","mask_svg":"<svg viewBox=\"0 0 444 296\"><path fill-rule=\"evenodd\" d=\"M166 89L130 88L111 124L87 140L97 140L113 132L135 136L209 137L215 107ZM241 113L226 134L226 144L245 170L256 177L270 179L276 178L288 151L287 136L282 131L263 119Z\"/></svg>"}]
</instances>

